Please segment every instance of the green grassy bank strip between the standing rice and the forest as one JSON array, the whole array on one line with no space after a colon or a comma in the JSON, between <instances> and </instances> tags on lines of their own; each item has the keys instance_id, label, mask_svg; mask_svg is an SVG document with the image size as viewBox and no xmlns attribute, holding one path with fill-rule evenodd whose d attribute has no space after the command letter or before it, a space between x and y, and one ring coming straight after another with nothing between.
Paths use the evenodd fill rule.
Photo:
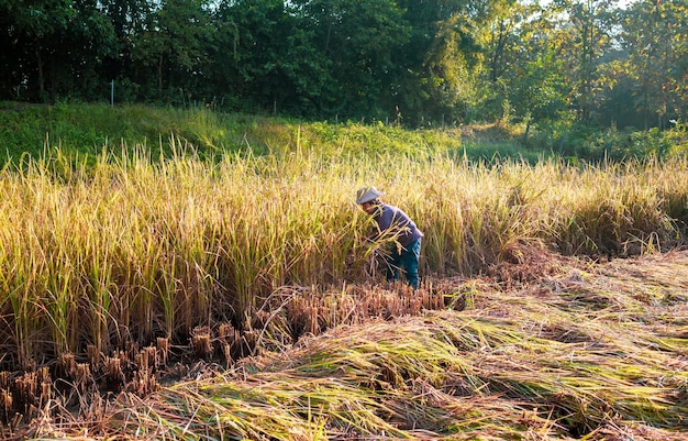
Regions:
<instances>
[{"instance_id":1,"label":"green grassy bank strip between the standing rice and the forest","mask_svg":"<svg viewBox=\"0 0 688 441\"><path fill-rule=\"evenodd\" d=\"M585 162L656 157L666 159L688 151L686 129L620 131L615 126L593 130L566 117L533 124L524 140L524 125L486 124L458 129L404 130L381 121L360 124L308 122L208 109L179 110L145 106L0 104L2 162L22 155L44 155L46 148L97 155L103 147L120 152L145 146L170 153L169 141L188 144L200 155L251 151L286 155L293 148L324 157L403 153L410 157L448 154L477 162L509 158L535 164L548 156Z\"/></svg>"}]
</instances>

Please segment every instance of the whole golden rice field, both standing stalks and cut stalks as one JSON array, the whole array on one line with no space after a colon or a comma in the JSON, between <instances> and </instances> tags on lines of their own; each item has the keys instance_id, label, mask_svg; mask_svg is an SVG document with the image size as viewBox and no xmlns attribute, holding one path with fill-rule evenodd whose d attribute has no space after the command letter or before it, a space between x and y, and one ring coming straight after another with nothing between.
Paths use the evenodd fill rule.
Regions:
<instances>
[{"instance_id":1,"label":"whole golden rice field, both standing stalks and cut stalks","mask_svg":"<svg viewBox=\"0 0 688 441\"><path fill-rule=\"evenodd\" d=\"M685 431L686 159L170 144L0 172L5 438ZM417 293L381 282L370 184L425 233Z\"/></svg>"}]
</instances>

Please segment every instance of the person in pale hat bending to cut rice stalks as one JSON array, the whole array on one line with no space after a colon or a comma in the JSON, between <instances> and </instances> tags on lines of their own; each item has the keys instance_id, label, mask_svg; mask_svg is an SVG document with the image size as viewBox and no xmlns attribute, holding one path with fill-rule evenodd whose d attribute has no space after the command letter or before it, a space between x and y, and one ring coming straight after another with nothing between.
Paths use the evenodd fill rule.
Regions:
<instances>
[{"instance_id":1,"label":"person in pale hat bending to cut rice stalks","mask_svg":"<svg viewBox=\"0 0 688 441\"><path fill-rule=\"evenodd\" d=\"M418 263L421 256L423 233L407 213L395 206L379 201L384 192L375 187L364 187L356 192L356 203L377 223L371 240L393 240L387 261L387 280L398 280L406 274L409 286L418 289Z\"/></svg>"}]
</instances>

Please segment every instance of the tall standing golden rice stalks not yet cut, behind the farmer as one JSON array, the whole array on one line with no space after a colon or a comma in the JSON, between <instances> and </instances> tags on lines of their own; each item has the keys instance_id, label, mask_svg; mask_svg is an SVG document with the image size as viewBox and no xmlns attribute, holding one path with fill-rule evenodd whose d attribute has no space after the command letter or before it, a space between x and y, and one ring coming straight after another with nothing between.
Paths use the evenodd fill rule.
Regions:
<instances>
[{"instance_id":1,"label":"tall standing golden rice stalks not yet cut, behind the farmer","mask_svg":"<svg viewBox=\"0 0 688 441\"><path fill-rule=\"evenodd\" d=\"M88 345L111 353L199 326L248 326L286 285L366 276L374 184L425 232L424 274L475 274L547 244L640 253L678 243L686 159L570 167L497 165L446 152L319 151L296 131L264 155L200 157L171 137L93 158L59 150L0 173L0 341L5 368Z\"/></svg>"}]
</instances>

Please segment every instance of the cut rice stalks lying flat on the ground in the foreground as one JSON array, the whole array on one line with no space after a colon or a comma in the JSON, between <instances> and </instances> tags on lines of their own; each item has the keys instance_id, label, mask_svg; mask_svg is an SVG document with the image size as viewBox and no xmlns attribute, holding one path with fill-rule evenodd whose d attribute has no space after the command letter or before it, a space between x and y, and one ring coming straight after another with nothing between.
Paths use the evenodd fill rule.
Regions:
<instances>
[{"instance_id":1,"label":"cut rice stalks lying flat on the ground in the foreground","mask_svg":"<svg viewBox=\"0 0 688 441\"><path fill-rule=\"evenodd\" d=\"M533 254L433 280L415 302L393 287L301 293L266 318L253 356L7 436L685 440L687 286L686 252L601 264ZM437 299L447 307L430 308ZM300 323L280 319L297 307Z\"/></svg>"}]
</instances>

